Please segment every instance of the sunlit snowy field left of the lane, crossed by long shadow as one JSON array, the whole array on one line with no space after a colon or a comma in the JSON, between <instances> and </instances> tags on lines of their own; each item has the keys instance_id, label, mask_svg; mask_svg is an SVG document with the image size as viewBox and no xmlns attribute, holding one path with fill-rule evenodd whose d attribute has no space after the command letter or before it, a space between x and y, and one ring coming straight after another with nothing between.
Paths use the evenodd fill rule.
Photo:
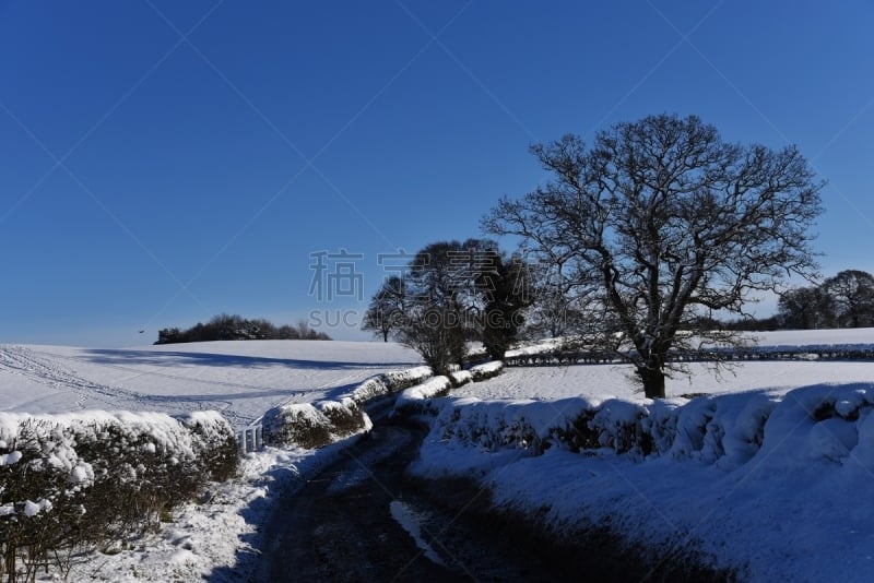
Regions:
<instances>
[{"instance_id":1,"label":"sunlit snowy field left of the lane, crossed by long shadow","mask_svg":"<svg viewBox=\"0 0 874 583\"><path fill-rule=\"evenodd\" d=\"M281 403L421 364L398 344L240 341L98 349L0 345L0 411L214 409L244 427Z\"/></svg>"}]
</instances>

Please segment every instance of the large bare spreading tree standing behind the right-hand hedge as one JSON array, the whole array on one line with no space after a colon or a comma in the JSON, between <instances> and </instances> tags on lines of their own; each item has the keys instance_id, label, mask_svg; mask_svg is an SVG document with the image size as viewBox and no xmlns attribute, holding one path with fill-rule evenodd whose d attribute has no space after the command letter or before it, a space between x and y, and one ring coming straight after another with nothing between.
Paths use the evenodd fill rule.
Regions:
<instances>
[{"instance_id":1,"label":"large bare spreading tree standing behind the right-hand hedge","mask_svg":"<svg viewBox=\"0 0 874 583\"><path fill-rule=\"evenodd\" d=\"M560 260L615 316L649 397L664 396L669 352L733 343L699 325L744 314L751 293L812 276L808 227L822 182L793 147L724 142L697 117L660 115L532 147L553 180L503 199L483 228Z\"/></svg>"}]
</instances>

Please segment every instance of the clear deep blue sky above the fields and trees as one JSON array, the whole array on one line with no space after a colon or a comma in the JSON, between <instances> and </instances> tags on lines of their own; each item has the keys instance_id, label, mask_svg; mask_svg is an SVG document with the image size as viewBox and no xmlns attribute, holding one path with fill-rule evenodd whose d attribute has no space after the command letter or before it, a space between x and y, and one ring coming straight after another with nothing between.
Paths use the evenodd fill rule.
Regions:
<instances>
[{"instance_id":1,"label":"clear deep blue sky above the fields and trees","mask_svg":"<svg viewBox=\"0 0 874 583\"><path fill-rule=\"evenodd\" d=\"M870 1L251 5L0 0L0 342L363 308L310 291L351 264L366 300L543 181L531 143L663 111L796 143L824 274L874 272Z\"/></svg>"}]
</instances>

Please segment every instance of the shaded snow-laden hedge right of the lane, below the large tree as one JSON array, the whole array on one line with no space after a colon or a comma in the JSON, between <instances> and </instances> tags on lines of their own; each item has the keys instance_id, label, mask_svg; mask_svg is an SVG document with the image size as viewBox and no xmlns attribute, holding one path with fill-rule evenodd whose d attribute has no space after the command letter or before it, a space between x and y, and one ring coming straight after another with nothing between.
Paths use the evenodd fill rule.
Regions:
<instances>
[{"instance_id":1,"label":"shaded snow-laden hedge right of the lane, below the large tree","mask_svg":"<svg viewBox=\"0 0 874 583\"><path fill-rule=\"evenodd\" d=\"M815 385L780 395L752 391L686 401L448 402L434 425L439 440L483 451L558 447L635 459L670 455L733 469L793 440L804 460L874 461L874 384ZM787 464L798 465L800 460ZM803 461L803 460L801 460Z\"/></svg>"}]
</instances>

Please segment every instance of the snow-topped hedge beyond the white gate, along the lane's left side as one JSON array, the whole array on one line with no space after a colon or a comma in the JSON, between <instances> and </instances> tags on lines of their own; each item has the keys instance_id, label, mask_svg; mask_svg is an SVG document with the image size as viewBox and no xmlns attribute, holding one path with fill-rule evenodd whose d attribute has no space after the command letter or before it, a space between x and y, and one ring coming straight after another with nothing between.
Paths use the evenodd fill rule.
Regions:
<instances>
[{"instance_id":1,"label":"snow-topped hedge beyond the white gate, along the lane's left side","mask_svg":"<svg viewBox=\"0 0 874 583\"><path fill-rule=\"evenodd\" d=\"M314 449L367 430L370 419L364 405L368 401L416 385L433 374L429 367L393 370L371 377L334 398L273 407L261 419L264 441Z\"/></svg>"}]
</instances>

